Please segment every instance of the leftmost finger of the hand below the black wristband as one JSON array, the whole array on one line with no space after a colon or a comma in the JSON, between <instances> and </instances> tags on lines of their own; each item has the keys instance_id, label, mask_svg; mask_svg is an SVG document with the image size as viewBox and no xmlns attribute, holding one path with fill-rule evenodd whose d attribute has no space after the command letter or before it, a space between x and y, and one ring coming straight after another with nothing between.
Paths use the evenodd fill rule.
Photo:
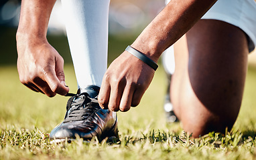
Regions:
<instances>
[{"instance_id":1,"label":"leftmost finger of the hand below the black wristband","mask_svg":"<svg viewBox=\"0 0 256 160\"><path fill-rule=\"evenodd\" d=\"M98 96L99 105L103 109L108 109L110 92L111 87L109 85L109 82L103 79L103 83L101 84L101 89Z\"/></svg>"}]
</instances>

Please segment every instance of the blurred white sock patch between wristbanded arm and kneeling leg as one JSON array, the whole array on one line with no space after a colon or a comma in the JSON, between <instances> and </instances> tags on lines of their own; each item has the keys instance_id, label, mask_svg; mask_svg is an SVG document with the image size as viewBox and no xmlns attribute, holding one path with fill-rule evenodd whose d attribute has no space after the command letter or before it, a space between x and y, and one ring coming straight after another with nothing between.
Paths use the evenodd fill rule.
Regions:
<instances>
[{"instance_id":1,"label":"blurred white sock patch between wristbanded arm and kneeling leg","mask_svg":"<svg viewBox=\"0 0 256 160\"><path fill-rule=\"evenodd\" d=\"M175 61L174 61L174 46L172 45L162 54L162 62L164 65L164 70L167 75L174 74Z\"/></svg>"}]
</instances>

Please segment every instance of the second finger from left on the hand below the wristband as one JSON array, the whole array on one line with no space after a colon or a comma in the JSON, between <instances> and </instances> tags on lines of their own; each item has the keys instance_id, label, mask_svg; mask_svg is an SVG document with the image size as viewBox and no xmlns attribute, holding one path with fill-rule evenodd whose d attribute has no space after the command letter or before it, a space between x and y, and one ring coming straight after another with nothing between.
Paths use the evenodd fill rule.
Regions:
<instances>
[{"instance_id":1,"label":"second finger from left on the hand below the wristband","mask_svg":"<svg viewBox=\"0 0 256 160\"><path fill-rule=\"evenodd\" d=\"M119 111L119 104L126 84L123 83L123 80L114 81L112 84L114 85L111 85L108 107L111 111Z\"/></svg>"}]
</instances>

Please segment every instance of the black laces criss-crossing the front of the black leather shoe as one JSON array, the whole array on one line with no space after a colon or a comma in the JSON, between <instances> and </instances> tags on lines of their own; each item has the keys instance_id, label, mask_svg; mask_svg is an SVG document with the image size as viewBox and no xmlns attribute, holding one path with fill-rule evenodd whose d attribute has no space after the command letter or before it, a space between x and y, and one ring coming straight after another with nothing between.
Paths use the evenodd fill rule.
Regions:
<instances>
[{"instance_id":1,"label":"black laces criss-crossing the front of the black leather shoe","mask_svg":"<svg viewBox=\"0 0 256 160\"><path fill-rule=\"evenodd\" d=\"M70 94L74 95L74 94ZM97 97L92 99L88 93L74 95L68 99L66 105L66 115L63 123L70 121L84 121L88 119L94 112L99 111L99 103Z\"/></svg>"}]
</instances>

